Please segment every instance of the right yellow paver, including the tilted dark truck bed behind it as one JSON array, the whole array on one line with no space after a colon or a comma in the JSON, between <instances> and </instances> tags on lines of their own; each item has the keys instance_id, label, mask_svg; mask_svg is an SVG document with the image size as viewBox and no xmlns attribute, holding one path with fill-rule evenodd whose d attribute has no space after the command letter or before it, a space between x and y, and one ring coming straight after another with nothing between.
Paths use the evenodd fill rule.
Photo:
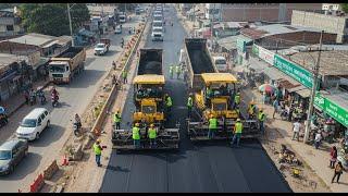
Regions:
<instances>
[{"instance_id":1,"label":"right yellow paver, including the tilted dark truck bed behind it","mask_svg":"<svg viewBox=\"0 0 348 196\"><path fill-rule=\"evenodd\" d=\"M257 120L247 120L247 106L233 108L238 81L231 73L219 73L212 63L204 38L185 39L185 64L188 71L189 93L194 98L191 117L187 120L191 140L208 140L209 118L217 119L214 140L232 137L232 131L239 118L244 124L241 137L257 137L260 134Z\"/></svg>"}]
</instances>

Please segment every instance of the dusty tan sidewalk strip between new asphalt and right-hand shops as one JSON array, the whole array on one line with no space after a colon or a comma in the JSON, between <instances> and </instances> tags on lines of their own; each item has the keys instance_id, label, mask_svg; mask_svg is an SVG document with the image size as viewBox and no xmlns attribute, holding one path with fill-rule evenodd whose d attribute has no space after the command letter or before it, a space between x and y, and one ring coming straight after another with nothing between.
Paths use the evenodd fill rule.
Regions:
<instances>
[{"instance_id":1,"label":"dusty tan sidewalk strip between new asphalt and right-hand shops","mask_svg":"<svg viewBox=\"0 0 348 196\"><path fill-rule=\"evenodd\" d=\"M261 100L261 94L254 90L246 91L249 96L249 99ZM259 101L258 101L259 103ZM272 119L273 107L269 105L258 105L264 111L268 117L268 126L270 128L276 128L277 132L284 137L286 143L296 151L296 154L302 158L302 160L320 176L325 184L331 188L334 193L347 193L348 192L348 177L347 172L340 176L340 184L331 183L331 180L334 174L334 170L328 168L330 163L330 148L328 144L323 144L320 149L315 149L311 145L303 144L302 140L291 140L293 137L293 124L287 121L283 121L279 118L279 114L275 114L275 119Z\"/></svg>"}]
</instances>

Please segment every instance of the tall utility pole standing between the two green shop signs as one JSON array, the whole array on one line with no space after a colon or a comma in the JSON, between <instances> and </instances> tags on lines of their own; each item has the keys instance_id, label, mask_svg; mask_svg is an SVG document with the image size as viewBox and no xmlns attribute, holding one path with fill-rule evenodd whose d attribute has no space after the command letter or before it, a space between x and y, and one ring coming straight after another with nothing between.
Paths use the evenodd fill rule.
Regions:
<instances>
[{"instance_id":1,"label":"tall utility pole standing between the two green shop signs","mask_svg":"<svg viewBox=\"0 0 348 196\"><path fill-rule=\"evenodd\" d=\"M315 91L316 91L316 85L318 85L318 75L319 75L319 68L320 68L320 57L322 53L322 45L323 45L323 33L324 30L321 32L320 34L320 44L319 44L319 53L318 53L318 60L316 64L313 68L313 86L312 86L312 93L311 93L311 99L310 99L310 106L309 106L309 112L308 112L308 118L307 118L307 124L306 124L306 130L304 130L304 137L303 137L303 143L308 140L309 137L309 132L311 128L311 120L313 115L313 110L314 110L314 97L315 97Z\"/></svg>"}]
</instances>

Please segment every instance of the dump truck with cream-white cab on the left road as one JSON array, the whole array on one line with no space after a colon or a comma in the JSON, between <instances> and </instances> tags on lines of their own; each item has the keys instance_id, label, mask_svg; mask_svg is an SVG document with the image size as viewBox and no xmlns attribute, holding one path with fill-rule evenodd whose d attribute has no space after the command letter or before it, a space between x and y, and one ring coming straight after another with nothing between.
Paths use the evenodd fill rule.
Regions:
<instances>
[{"instance_id":1,"label":"dump truck with cream-white cab on the left road","mask_svg":"<svg viewBox=\"0 0 348 196\"><path fill-rule=\"evenodd\" d=\"M85 70L85 60L86 50L83 47L70 47L51 58L48 64L50 82L69 84L75 75Z\"/></svg>"}]
</instances>

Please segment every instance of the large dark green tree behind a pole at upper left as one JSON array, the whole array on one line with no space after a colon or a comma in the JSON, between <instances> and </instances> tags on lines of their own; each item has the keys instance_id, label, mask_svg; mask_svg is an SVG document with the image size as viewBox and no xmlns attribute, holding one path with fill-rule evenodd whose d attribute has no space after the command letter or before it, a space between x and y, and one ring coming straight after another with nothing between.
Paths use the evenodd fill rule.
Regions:
<instances>
[{"instance_id":1,"label":"large dark green tree behind a pole at upper left","mask_svg":"<svg viewBox=\"0 0 348 196\"><path fill-rule=\"evenodd\" d=\"M67 7L65 3L23 3L20 7L23 26L29 33L51 36L70 35ZM73 32L89 20L87 5L76 3L71 9Z\"/></svg>"}]
</instances>

